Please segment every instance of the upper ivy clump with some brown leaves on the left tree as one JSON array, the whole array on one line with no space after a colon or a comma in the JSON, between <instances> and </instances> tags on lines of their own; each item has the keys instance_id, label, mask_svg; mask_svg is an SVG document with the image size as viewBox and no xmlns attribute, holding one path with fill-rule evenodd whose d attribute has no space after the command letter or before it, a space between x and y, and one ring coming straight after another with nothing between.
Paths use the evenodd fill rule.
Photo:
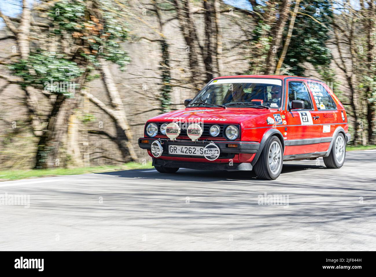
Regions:
<instances>
[{"instance_id":1,"label":"upper ivy clump with some brown leaves on the left tree","mask_svg":"<svg viewBox=\"0 0 376 277\"><path fill-rule=\"evenodd\" d=\"M88 3L95 9L88 10ZM93 13L94 10L100 11ZM129 57L121 50L120 43L128 37L129 26L125 20L123 7L109 0L82 1L62 0L57 2L49 13L55 23L55 33L63 31L88 45L81 55L98 66L97 58L102 57L120 65L124 69Z\"/></svg>"}]
</instances>

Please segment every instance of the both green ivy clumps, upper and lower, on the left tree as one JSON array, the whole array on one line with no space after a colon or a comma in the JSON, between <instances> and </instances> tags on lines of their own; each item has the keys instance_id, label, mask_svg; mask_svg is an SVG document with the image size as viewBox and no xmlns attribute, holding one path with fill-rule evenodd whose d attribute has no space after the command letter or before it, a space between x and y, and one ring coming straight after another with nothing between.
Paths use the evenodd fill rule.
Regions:
<instances>
[{"instance_id":1,"label":"both green ivy clumps, upper and lower, on the left tree","mask_svg":"<svg viewBox=\"0 0 376 277\"><path fill-rule=\"evenodd\" d=\"M126 11L111 0L61 0L46 12L48 38L65 40L68 38L71 49L76 52L47 52L32 48L26 60L19 60L9 69L22 78L22 86L46 89L46 82L74 82L85 71L100 67L99 58L117 63L120 69L129 64L130 58L120 43L129 32ZM73 44L73 45L72 45ZM75 46L75 47L73 47ZM60 49L58 47L58 49ZM98 75L88 75L92 80ZM55 86L48 86L51 93ZM72 96L67 93L67 96Z\"/></svg>"}]
</instances>

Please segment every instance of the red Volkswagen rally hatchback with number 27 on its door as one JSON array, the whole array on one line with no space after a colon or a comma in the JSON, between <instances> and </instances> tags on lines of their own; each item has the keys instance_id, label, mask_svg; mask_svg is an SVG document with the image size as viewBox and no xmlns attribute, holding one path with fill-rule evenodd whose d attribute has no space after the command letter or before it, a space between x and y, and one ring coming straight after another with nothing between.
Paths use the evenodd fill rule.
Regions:
<instances>
[{"instance_id":1,"label":"red Volkswagen rally hatchback with number 27 on its door","mask_svg":"<svg viewBox=\"0 0 376 277\"><path fill-rule=\"evenodd\" d=\"M145 124L139 147L162 173L255 170L276 179L283 161L323 157L340 168L350 141L343 105L323 82L239 75L211 80L186 108Z\"/></svg>"}]
</instances>

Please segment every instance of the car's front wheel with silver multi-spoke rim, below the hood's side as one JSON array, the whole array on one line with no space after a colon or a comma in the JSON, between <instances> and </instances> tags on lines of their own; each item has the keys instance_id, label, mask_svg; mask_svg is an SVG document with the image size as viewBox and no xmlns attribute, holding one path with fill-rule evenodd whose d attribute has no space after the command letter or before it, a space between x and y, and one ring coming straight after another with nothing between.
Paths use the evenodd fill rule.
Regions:
<instances>
[{"instance_id":1,"label":"car's front wheel with silver multi-spoke rim, below the hood's side","mask_svg":"<svg viewBox=\"0 0 376 277\"><path fill-rule=\"evenodd\" d=\"M255 173L259 179L275 180L282 171L283 150L280 140L272 136L262 149L255 164Z\"/></svg>"}]
</instances>

